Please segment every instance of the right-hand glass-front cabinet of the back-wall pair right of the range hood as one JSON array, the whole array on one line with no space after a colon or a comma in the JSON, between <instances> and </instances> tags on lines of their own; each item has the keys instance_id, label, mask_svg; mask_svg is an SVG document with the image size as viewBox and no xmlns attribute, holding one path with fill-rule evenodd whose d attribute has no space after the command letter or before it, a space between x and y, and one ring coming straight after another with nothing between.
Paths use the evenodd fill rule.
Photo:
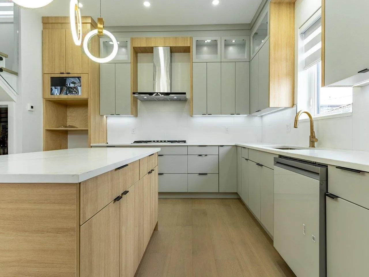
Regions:
<instances>
[{"instance_id":1,"label":"right-hand glass-front cabinet of the back-wall pair right of the range hood","mask_svg":"<svg viewBox=\"0 0 369 277\"><path fill-rule=\"evenodd\" d=\"M249 62L250 37L222 37L222 62Z\"/></svg>"}]
</instances>

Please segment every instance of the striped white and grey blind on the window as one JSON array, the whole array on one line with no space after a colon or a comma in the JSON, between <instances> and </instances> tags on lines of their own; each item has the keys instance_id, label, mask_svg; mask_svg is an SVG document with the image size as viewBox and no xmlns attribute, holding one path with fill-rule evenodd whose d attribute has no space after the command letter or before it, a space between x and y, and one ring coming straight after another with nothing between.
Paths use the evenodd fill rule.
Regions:
<instances>
[{"instance_id":1,"label":"striped white and grey blind on the window","mask_svg":"<svg viewBox=\"0 0 369 277\"><path fill-rule=\"evenodd\" d=\"M304 69L317 64L321 60L321 33L321 17L302 33L304 40Z\"/></svg>"}]
</instances>

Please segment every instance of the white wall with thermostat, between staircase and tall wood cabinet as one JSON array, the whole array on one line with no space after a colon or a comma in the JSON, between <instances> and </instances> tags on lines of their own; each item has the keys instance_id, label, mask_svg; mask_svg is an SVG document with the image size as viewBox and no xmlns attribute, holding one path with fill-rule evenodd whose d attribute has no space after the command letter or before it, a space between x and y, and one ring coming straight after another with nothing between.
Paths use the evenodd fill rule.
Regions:
<instances>
[{"instance_id":1,"label":"white wall with thermostat, between staircase and tall wood cabinet","mask_svg":"<svg viewBox=\"0 0 369 277\"><path fill-rule=\"evenodd\" d=\"M42 151L42 22L20 9L19 97L15 103L15 153ZM35 106L27 110L27 103Z\"/></svg>"}]
</instances>

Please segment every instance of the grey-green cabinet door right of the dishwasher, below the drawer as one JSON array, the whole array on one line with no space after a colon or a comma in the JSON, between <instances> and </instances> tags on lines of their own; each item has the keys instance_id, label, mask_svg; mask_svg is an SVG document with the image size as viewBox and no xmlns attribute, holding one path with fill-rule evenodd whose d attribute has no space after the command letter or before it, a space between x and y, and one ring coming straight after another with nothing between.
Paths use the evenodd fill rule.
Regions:
<instances>
[{"instance_id":1,"label":"grey-green cabinet door right of the dishwasher, below the drawer","mask_svg":"<svg viewBox=\"0 0 369 277\"><path fill-rule=\"evenodd\" d=\"M327 200L327 277L368 276L369 210Z\"/></svg>"}]
</instances>

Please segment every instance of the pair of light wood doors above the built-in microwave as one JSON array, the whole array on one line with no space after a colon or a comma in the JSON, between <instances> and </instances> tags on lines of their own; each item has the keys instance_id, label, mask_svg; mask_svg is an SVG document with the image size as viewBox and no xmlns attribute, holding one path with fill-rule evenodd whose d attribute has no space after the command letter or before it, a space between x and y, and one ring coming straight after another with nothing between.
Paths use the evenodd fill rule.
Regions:
<instances>
[{"instance_id":1,"label":"pair of light wood doors above the built-in microwave","mask_svg":"<svg viewBox=\"0 0 369 277\"><path fill-rule=\"evenodd\" d=\"M89 58L73 42L70 29L42 30L42 53L43 73L89 73Z\"/></svg>"}]
</instances>

